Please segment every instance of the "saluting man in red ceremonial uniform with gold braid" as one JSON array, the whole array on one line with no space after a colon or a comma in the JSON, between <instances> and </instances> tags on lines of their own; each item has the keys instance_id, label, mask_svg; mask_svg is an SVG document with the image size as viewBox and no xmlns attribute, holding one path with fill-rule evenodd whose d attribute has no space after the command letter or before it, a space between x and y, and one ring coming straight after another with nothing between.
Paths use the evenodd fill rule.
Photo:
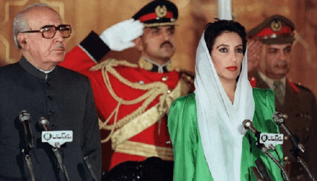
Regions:
<instances>
[{"instance_id":1,"label":"saluting man in red ceremonial uniform with gold braid","mask_svg":"<svg viewBox=\"0 0 317 181\"><path fill-rule=\"evenodd\" d=\"M154 173L150 170L159 168L159 172L148 180L163 176L172 179L173 155L166 114L171 102L187 94L192 85L189 75L177 72L171 66L176 48L177 17L175 4L154 0L139 10L133 19L113 25L101 36L92 32L60 63L87 75L92 82L101 119L103 171L108 170L108 162L111 169L126 161L144 161L155 156L157 158L146 163L133 162L133 166L132 162L120 164L115 170L120 177L126 174L133 180L140 176L135 174L137 171L148 169L148 173ZM132 46L141 52L138 64L111 59L96 65L110 49L120 51ZM105 143L109 139L114 150L110 161ZM143 167L151 163L157 167ZM165 165L168 165L168 172L162 174ZM146 176L143 179L146 180Z\"/></svg>"}]
</instances>

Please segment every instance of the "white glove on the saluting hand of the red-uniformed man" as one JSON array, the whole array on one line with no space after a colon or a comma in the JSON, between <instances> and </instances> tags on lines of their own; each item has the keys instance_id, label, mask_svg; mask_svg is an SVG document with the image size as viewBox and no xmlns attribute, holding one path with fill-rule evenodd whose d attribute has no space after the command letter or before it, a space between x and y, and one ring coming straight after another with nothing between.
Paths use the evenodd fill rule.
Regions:
<instances>
[{"instance_id":1,"label":"white glove on the saluting hand of the red-uniformed man","mask_svg":"<svg viewBox=\"0 0 317 181\"><path fill-rule=\"evenodd\" d=\"M111 50L122 51L135 46L132 41L143 34L143 28L143 23L132 18L112 25L100 38Z\"/></svg>"}]
</instances>

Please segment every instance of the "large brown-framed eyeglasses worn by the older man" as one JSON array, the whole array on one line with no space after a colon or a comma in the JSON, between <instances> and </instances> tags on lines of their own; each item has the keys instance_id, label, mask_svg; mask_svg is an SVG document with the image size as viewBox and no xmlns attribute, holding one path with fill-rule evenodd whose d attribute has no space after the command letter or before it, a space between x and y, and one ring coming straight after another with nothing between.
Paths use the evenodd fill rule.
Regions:
<instances>
[{"instance_id":1,"label":"large brown-framed eyeglasses worn by the older man","mask_svg":"<svg viewBox=\"0 0 317 181\"><path fill-rule=\"evenodd\" d=\"M56 31L59 30L61 33L61 36L63 38L68 38L71 34L71 27L70 25L59 25L59 26L54 26L54 25L46 25L43 26L41 30L31 30L31 31L25 31L21 33L42 33L42 37L45 39L52 39Z\"/></svg>"}]
</instances>

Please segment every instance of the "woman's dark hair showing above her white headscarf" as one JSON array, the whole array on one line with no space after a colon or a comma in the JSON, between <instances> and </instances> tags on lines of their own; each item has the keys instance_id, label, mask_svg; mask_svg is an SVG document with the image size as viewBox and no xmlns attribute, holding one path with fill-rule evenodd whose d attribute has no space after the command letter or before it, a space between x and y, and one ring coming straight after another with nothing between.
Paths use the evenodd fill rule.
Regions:
<instances>
[{"instance_id":1,"label":"woman's dark hair showing above her white headscarf","mask_svg":"<svg viewBox=\"0 0 317 181\"><path fill-rule=\"evenodd\" d=\"M205 28L204 39L209 53L211 53L212 46L218 36L224 32L235 32L242 39L242 52L244 55L247 49L247 33L244 26L233 20L219 20L216 18L215 20L213 23L208 23Z\"/></svg>"}]
</instances>

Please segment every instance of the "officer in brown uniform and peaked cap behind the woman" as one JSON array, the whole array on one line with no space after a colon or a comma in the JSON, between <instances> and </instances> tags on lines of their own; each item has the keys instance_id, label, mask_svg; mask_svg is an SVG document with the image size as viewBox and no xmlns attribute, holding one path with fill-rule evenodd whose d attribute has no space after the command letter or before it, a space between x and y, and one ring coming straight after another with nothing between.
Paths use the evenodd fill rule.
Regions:
<instances>
[{"instance_id":1,"label":"officer in brown uniform and peaked cap behind the woman","mask_svg":"<svg viewBox=\"0 0 317 181\"><path fill-rule=\"evenodd\" d=\"M305 146L308 156L305 160L313 171L316 169L313 148L313 144L316 144L313 143L313 128L316 127L317 118L316 97L311 90L292 83L286 77L291 65L294 28L293 22L286 17L274 15L249 31L248 66L251 69L258 67L250 82L252 87L274 90L275 109L284 114L286 124ZM250 68L249 73L252 71ZM289 136L282 129L280 132L284 134L284 168L291 181L309 180L305 170L289 151L292 149Z\"/></svg>"}]
</instances>

